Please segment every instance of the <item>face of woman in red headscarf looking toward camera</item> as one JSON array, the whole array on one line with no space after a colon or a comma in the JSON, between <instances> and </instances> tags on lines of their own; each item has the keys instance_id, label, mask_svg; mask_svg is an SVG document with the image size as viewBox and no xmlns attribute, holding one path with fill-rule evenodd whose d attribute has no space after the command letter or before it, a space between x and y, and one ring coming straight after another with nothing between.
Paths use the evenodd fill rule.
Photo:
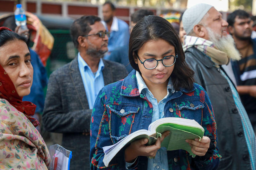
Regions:
<instances>
[{"instance_id":1,"label":"face of woman in red headscarf looking toward camera","mask_svg":"<svg viewBox=\"0 0 256 170\"><path fill-rule=\"evenodd\" d=\"M33 67L27 44L21 40L6 42L0 47L0 64L11 78L18 95L28 95L33 81Z\"/></svg>"}]
</instances>

